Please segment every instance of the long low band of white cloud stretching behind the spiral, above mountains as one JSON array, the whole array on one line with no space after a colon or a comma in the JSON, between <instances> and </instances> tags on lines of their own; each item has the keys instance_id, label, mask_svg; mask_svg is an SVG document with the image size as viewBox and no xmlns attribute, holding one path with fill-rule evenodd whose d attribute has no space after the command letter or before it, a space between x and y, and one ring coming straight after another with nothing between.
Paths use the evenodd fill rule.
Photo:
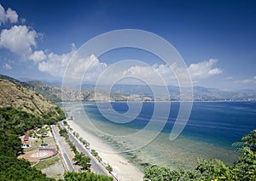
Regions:
<instances>
[{"instance_id":1,"label":"long low band of white cloud stretching behind the spiral, above mountains","mask_svg":"<svg viewBox=\"0 0 256 181\"><path fill-rule=\"evenodd\" d=\"M87 62L86 64L90 64L90 60L92 59L87 59L87 60L82 60ZM78 61L79 62L79 61ZM107 69L112 69L111 71L108 70L108 74L104 74L105 77L101 77L103 83L108 83L109 80L119 80L120 77L129 77L129 79L126 79L123 81L123 83L138 83L137 78L143 80L144 82L154 82L155 85L162 84L160 82L159 77L166 82L166 84L169 85L177 85L177 77L179 79L179 83L183 83L183 85L186 85L188 82L188 77L184 76L185 71L191 71L191 78L192 82L198 82L198 80L207 78L208 76L214 76L222 73L223 71L219 68L212 68L212 66L217 62L217 60L210 59L209 61L204 61L200 62L198 64L193 64L190 65L189 68L184 68L184 67L178 67L177 64L172 64L170 66L168 65L158 65L154 64L152 66L148 65L130 65L130 67L115 67L111 68L112 65L102 65L96 60L96 66L93 71L88 71L88 74L90 75L90 72L94 73L94 77L101 76L102 71L107 70ZM83 72L83 70L86 70L86 65L85 67L82 65L82 62L79 62L79 65L77 68L73 69L73 72ZM101 67L101 71L96 71ZM78 71L79 69L79 71ZM71 69L70 69L71 71ZM97 75L96 72L99 72ZM76 74L78 75L78 74ZM156 76L158 75L158 76ZM70 76L71 77L71 76ZM131 81L131 77L134 77L133 81ZM189 85L189 84L187 84Z\"/></svg>"}]
</instances>

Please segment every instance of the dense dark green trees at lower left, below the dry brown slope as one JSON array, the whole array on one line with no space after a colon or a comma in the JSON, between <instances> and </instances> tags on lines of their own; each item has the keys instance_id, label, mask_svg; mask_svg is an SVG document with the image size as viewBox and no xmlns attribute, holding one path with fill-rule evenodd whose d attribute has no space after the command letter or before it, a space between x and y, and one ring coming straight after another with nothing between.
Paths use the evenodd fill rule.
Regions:
<instances>
[{"instance_id":1,"label":"dense dark green trees at lower left, below the dry brown slope","mask_svg":"<svg viewBox=\"0 0 256 181\"><path fill-rule=\"evenodd\" d=\"M17 159L17 156L23 152L20 134L57 121L55 117L43 119L13 107L0 108L0 180L53 180L31 167L28 161Z\"/></svg>"}]
</instances>

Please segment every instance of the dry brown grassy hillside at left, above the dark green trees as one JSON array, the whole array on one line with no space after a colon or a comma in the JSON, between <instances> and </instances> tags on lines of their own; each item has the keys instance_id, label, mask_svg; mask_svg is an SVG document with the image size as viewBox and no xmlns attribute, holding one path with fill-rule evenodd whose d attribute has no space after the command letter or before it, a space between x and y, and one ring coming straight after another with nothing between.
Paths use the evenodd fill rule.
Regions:
<instances>
[{"instance_id":1,"label":"dry brown grassy hillside at left, above the dark green trees","mask_svg":"<svg viewBox=\"0 0 256 181\"><path fill-rule=\"evenodd\" d=\"M7 76L8 77L8 76ZM35 116L59 115L60 108L43 95L25 88L11 77L0 77L0 107L12 106Z\"/></svg>"}]
</instances>

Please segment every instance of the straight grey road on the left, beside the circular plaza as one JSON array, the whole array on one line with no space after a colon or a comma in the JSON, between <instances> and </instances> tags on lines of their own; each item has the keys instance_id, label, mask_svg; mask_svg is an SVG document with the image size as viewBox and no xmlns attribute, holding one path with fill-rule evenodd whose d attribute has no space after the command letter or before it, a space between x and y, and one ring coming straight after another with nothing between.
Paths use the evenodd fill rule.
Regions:
<instances>
[{"instance_id":1,"label":"straight grey road on the left, beside the circular plaza","mask_svg":"<svg viewBox=\"0 0 256 181\"><path fill-rule=\"evenodd\" d=\"M66 151L65 147L61 144L60 134L57 132L56 126L52 125L51 128L52 128L53 134L55 136L56 144L59 146L61 155L63 157L65 165L67 166L67 170L73 171L74 170L73 162L70 160L69 156L67 155L67 151Z\"/></svg>"}]
</instances>

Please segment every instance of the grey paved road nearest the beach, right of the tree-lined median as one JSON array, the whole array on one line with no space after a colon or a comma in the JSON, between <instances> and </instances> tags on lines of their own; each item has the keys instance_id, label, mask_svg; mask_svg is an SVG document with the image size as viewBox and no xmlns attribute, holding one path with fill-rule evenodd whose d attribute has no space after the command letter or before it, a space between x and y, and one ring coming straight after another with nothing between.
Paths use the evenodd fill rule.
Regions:
<instances>
[{"instance_id":1,"label":"grey paved road nearest the beach, right of the tree-lined median","mask_svg":"<svg viewBox=\"0 0 256 181\"><path fill-rule=\"evenodd\" d=\"M60 122L60 126L62 128L64 128L64 125L62 122ZM73 133L70 133L69 130L67 130L67 133L68 133L68 136L69 136L69 139L73 142L73 144L77 147L77 149L81 152L83 152L85 154L85 156L89 156L90 157L90 164L91 164L91 167L93 168L93 170L97 173L97 174L103 174L103 175L108 175L108 176L111 176L109 173L108 173L108 170L102 166L102 164L97 161L96 157L95 156L92 156L90 154L90 151L87 150L86 148L84 148L84 145L80 144L79 143L79 140L76 139L74 136L73 136Z\"/></svg>"}]
</instances>

